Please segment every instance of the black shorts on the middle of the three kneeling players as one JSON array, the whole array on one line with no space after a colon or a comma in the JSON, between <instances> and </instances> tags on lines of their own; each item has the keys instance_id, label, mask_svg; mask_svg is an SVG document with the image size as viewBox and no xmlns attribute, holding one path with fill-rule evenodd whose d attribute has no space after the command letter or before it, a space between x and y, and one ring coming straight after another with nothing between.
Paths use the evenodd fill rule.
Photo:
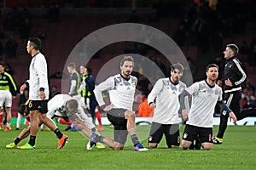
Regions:
<instances>
[{"instance_id":1,"label":"black shorts on the middle of the three kneeling players","mask_svg":"<svg viewBox=\"0 0 256 170\"><path fill-rule=\"evenodd\" d=\"M148 143L159 144L163 134L166 136L168 148L171 148L172 145L178 146L180 144L179 124L160 124L158 122L152 122Z\"/></svg>"}]
</instances>

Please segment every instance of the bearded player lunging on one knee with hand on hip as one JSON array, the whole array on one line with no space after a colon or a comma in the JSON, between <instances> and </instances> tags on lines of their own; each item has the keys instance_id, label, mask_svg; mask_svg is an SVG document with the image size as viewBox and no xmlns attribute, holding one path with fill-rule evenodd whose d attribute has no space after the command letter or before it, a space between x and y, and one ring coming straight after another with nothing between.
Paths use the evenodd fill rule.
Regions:
<instances>
[{"instance_id":1,"label":"bearded player lunging on one knee with hand on hip","mask_svg":"<svg viewBox=\"0 0 256 170\"><path fill-rule=\"evenodd\" d=\"M137 77L131 76L133 66L133 58L131 56L125 56L120 61L121 73L113 77L108 77L105 82L100 83L94 90L98 104L104 111L107 111L108 121L113 124L114 140L98 136L95 133L91 134L90 140L108 144L113 150L122 150L124 148L128 133L134 144L133 150L148 150L144 148L137 137L136 116L134 111L132 111L137 86ZM105 105L102 98L102 92L106 90L109 92L111 102L108 106Z\"/></svg>"}]
</instances>

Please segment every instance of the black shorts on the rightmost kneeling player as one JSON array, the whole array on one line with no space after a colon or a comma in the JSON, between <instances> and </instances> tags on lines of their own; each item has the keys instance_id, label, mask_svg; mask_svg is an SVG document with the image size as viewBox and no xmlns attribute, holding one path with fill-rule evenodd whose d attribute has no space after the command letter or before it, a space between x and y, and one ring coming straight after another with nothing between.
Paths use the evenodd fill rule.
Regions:
<instances>
[{"instance_id":1,"label":"black shorts on the rightmost kneeling player","mask_svg":"<svg viewBox=\"0 0 256 170\"><path fill-rule=\"evenodd\" d=\"M193 125L186 125L183 132L183 140L193 142L197 136L201 143L212 143L212 127L195 127Z\"/></svg>"}]
</instances>

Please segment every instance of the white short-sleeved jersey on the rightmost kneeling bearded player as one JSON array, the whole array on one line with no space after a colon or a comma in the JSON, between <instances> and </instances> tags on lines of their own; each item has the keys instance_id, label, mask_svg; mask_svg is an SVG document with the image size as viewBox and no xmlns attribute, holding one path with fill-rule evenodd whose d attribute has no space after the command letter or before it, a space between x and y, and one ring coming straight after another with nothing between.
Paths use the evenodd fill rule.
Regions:
<instances>
[{"instance_id":1,"label":"white short-sleeved jersey on the rightmost kneeling bearded player","mask_svg":"<svg viewBox=\"0 0 256 170\"><path fill-rule=\"evenodd\" d=\"M217 84L210 87L206 80L195 82L186 91L192 95L187 124L197 127L212 127L214 108L222 100L222 89Z\"/></svg>"}]
</instances>

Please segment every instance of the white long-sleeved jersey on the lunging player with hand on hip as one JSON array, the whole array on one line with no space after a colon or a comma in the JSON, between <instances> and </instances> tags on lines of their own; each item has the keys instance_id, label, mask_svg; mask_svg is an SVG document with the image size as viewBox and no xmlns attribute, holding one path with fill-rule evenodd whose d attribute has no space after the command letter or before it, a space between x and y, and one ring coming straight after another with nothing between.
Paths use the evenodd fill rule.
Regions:
<instances>
[{"instance_id":1,"label":"white long-sleeved jersey on the lunging player with hand on hip","mask_svg":"<svg viewBox=\"0 0 256 170\"><path fill-rule=\"evenodd\" d=\"M109 90L109 99L113 108L121 108L132 111L134 94L137 86L137 77L130 76L126 80L120 74L109 77L94 89L96 100L100 106L105 105L102 92Z\"/></svg>"}]
</instances>

